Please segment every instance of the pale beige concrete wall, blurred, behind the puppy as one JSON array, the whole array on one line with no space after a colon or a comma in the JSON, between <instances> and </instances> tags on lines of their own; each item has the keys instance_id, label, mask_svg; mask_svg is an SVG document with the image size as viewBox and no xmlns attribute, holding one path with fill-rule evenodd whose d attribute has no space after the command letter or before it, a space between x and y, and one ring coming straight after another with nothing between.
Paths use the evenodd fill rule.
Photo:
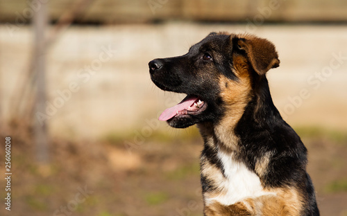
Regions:
<instances>
[{"instance_id":1,"label":"pale beige concrete wall, blurred, behind the puppy","mask_svg":"<svg viewBox=\"0 0 347 216\"><path fill-rule=\"evenodd\" d=\"M157 117L184 96L155 87L148 62L182 55L211 31L238 33L246 28L185 23L69 28L46 53L51 134L102 137L142 133L145 127L175 133ZM280 67L271 70L268 78L285 119L292 125L346 131L347 27L256 26L251 33L268 38L278 48ZM10 105L19 100L14 96L19 81L26 79L32 41L28 27L10 35L6 26L0 26L3 120L15 108Z\"/></svg>"}]
</instances>

